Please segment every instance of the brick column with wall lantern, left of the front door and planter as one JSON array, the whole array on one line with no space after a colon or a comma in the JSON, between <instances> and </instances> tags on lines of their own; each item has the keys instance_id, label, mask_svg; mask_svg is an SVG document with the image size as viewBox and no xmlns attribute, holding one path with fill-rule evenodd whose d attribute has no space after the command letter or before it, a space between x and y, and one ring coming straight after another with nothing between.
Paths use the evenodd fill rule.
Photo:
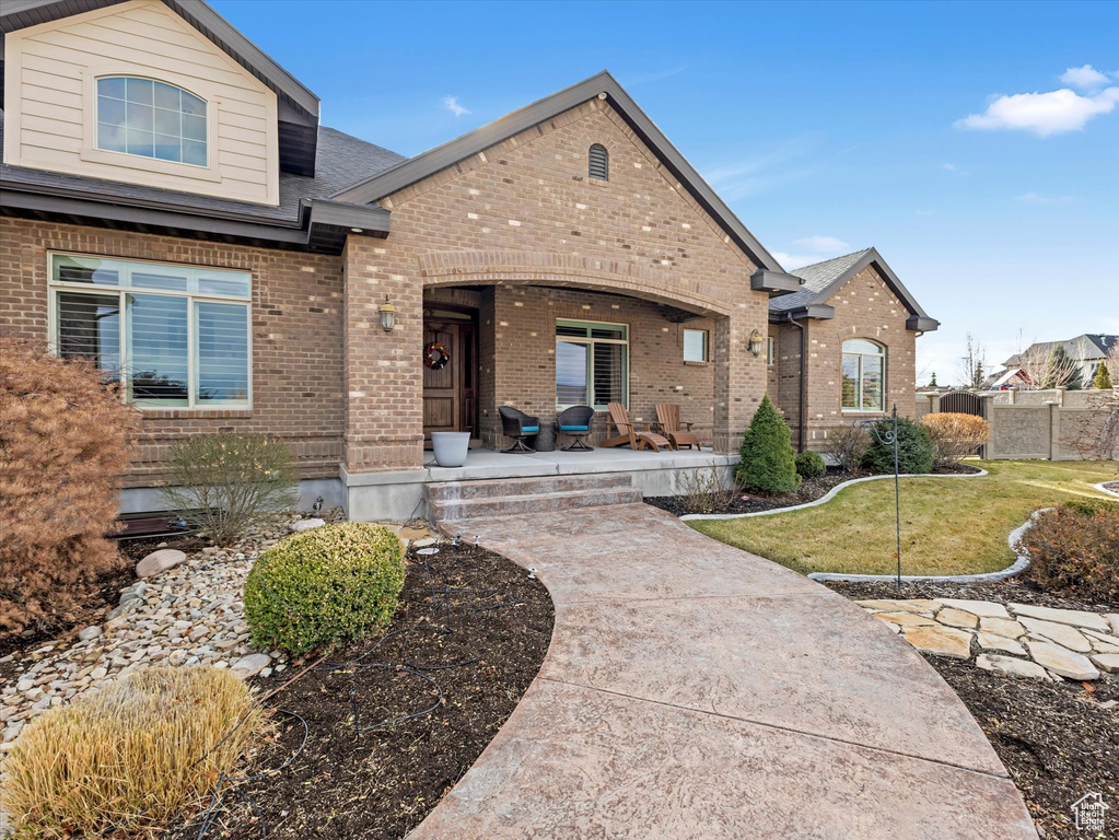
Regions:
<instances>
[{"instance_id":1,"label":"brick column with wall lantern, left of the front door and planter","mask_svg":"<svg viewBox=\"0 0 1119 840\"><path fill-rule=\"evenodd\" d=\"M423 284L397 273L384 239L350 236L342 251L346 470L423 466ZM380 327L385 295L396 327Z\"/></svg>"}]
</instances>

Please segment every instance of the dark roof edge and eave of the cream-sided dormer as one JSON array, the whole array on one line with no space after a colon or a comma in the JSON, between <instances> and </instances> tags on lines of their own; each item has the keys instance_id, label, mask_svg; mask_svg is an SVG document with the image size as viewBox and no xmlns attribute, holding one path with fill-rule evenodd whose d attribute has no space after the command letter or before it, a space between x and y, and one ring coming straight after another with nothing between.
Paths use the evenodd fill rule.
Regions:
<instances>
[{"instance_id":1,"label":"dark roof edge and eave of the cream-sided dormer","mask_svg":"<svg viewBox=\"0 0 1119 840\"><path fill-rule=\"evenodd\" d=\"M0 4L0 32L47 23L125 0L4 0ZM279 102L280 168L314 174L319 129L319 97L242 35L205 0L161 0L171 11L210 40L276 94ZM0 89L0 108L3 93Z\"/></svg>"}]
</instances>

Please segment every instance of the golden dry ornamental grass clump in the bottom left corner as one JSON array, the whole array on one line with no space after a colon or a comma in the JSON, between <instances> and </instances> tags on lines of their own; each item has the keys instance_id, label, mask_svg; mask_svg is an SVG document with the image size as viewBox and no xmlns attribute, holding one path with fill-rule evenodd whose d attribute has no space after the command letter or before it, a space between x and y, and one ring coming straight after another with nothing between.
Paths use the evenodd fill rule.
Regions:
<instances>
[{"instance_id":1,"label":"golden dry ornamental grass clump in the bottom left corner","mask_svg":"<svg viewBox=\"0 0 1119 840\"><path fill-rule=\"evenodd\" d=\"M233 772L263 725L245 683L216 668L150 668L83 695L28 724L4 761L12 837L166 825Z\"/></svg>"}]
</instances>

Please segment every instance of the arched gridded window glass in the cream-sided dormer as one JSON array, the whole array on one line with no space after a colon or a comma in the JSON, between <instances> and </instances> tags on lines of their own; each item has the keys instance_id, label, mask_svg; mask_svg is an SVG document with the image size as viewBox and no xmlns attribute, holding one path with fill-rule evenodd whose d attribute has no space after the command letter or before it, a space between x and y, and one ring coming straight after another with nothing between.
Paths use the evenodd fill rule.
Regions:
<instances>
[{"instance_id":1,"label":"arched gridded window glass in the cream-sided dormer","mask_svg":"<svg viewBox=\"0 0 1119 840\"><path fill-rule=\"evenodd\" d=\"M97 79L97 148L205 167L206 101L150 78Z\"/></svg>"}]
</instances>

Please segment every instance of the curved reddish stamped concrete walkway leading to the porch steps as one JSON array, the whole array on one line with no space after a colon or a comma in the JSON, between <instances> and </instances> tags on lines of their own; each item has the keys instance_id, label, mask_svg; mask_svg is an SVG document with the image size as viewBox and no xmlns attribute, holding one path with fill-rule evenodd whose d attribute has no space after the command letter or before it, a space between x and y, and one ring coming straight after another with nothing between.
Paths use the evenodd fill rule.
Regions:
<instances>
[{"instance_id":1,"label":"curved reddish stamped concrete walkway leading to the porch steps","mask_svg":"<svg viewBox=\"0 0 1119 840\"><path fill-rule=\"evenodd\" d=\"M473 520L555 602L513 716L410 840L1036 840L882 622L645 504Z\"/></svg>"}]
</instances>

